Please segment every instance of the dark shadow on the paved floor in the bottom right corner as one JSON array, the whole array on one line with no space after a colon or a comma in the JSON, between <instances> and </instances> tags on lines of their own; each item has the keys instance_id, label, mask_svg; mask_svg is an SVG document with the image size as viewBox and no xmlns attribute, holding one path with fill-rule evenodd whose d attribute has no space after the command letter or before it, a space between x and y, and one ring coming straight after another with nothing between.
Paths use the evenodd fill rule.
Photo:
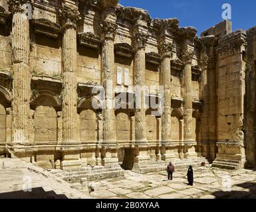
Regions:
<instances>
[{"instance_id":1,"label":"dark shadow on the paved floor in the bottom right corner","mask_svg":"<svg viewBox=\"0 0 256 212\"><path fill-rule=\"evenodd\" d=\"M235 186L249 189L249 191L216 191L211 195L216 199L256 199L256 183L247 182Z\"/></svg>"}]
</instances>

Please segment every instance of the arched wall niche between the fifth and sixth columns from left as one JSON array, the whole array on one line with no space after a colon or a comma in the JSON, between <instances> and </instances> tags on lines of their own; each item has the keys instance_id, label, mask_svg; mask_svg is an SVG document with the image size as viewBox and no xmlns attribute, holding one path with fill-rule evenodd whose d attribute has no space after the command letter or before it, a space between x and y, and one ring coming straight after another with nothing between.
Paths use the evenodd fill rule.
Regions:
<instances>
[{"instance_id":1,"label":"arched wall niche between the fifth and sixth columns from left","mask_svg":"<svg viewBox=\"0 0 256 212\"><path fill-rule=\"evenodd\" d=\"M183 111L181 108L173 109L171 113L171 139L182 140L183 125Z\"/></svg>"}]
</instances>

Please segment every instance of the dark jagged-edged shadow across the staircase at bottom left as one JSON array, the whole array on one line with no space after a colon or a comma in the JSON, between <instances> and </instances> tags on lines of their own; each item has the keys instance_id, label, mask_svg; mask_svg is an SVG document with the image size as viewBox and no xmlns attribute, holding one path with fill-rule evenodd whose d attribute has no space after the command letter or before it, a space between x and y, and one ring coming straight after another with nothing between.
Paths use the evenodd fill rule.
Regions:
<instances>
[{"instance_id":1,"label":"dark jagged-edged shadow across the staircase at bottom left","mask_svg":"<svg viewBox=\"0 0 256 212\"><path fill-rule=\"evenodd\" d=\"M32 191L11 191L0 193L0 199L68 199L65 195L57 195L54 191L45 191L42 187L33 188Z\"/></svg>"}]
</instances>

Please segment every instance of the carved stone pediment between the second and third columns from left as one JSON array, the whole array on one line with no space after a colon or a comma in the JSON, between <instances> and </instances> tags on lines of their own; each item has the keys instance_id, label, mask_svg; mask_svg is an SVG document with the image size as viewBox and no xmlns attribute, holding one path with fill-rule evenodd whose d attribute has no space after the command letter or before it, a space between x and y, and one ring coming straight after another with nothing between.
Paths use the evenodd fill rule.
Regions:
<instances>
[{"instance_id":1,"label":"carved stone pediment between the second and third columns from left","mask_svg":"<svg viewBox=\"0 0 256 212\"><path fill-rule=\"evenodd\" d=\"M92 32L78 33L78 42L82 46L98 49L102 42L100 36L96 36Z\"/></svg>"}]
</instances>

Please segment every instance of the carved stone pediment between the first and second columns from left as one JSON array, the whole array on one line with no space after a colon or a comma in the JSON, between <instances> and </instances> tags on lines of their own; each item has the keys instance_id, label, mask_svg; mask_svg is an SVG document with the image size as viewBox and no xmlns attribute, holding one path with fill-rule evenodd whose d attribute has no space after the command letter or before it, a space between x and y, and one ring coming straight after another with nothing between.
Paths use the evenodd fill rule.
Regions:
<instances>
[{"instance_id":1,"label":"carved stone pediment between the first and second columns from left","mask_svg":"<svg viewBox=\"0 0 256 212\"><path fill-rule=\"evenodd\" d=\"M33 19L33 30L36 34L44 34L52 38L58 38L61 26L48 19Z\"/></svg>"}]
</instances>

